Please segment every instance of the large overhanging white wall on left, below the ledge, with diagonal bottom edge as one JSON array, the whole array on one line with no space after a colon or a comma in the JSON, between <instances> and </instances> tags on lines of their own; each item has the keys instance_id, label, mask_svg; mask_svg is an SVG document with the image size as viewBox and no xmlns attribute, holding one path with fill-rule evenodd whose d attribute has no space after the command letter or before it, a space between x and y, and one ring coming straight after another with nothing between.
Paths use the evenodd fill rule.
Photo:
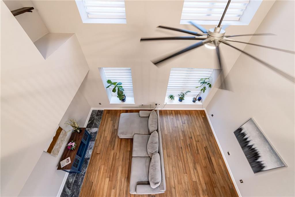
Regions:
<instances>
[{"instance_id":1,"label":"large overhanging white wall on left, below the ledge, with diagonal bottom edge","mask_svg":"<svg viewBox=\"0 0 295 197\"><path fill-rule=\"evenodd\" d=\"M75 35L46 60L1 3L1 196L17 196L88 64Z\"/></svg>"}]
</instances>

